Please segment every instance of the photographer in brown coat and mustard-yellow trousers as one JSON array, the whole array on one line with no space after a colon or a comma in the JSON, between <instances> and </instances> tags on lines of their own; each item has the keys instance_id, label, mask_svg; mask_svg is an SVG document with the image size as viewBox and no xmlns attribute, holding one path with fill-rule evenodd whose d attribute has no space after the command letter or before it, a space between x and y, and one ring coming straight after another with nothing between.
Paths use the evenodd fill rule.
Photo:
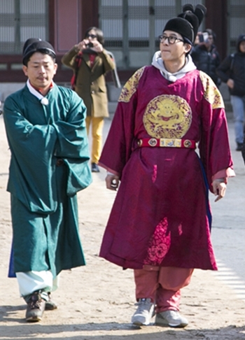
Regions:
<instances>
[{"instance_id":1,"label":"photographer in brown coat and mustard-yellow trousers","mask_svg":"<svg viewBox=\"0 0 245 340\"><path fill-rule=\"evenodd\" d=\"M109 117L106 80L107 71L115 69L111 55L104 50L104 35L101 29L90 27L85 38L74 45L62 57L62 64L73 69L73 90L87 106L87 134L92 126L92 172L99 172L97 165L102 149L104 118Z\"/></svg>"}]
</instances>

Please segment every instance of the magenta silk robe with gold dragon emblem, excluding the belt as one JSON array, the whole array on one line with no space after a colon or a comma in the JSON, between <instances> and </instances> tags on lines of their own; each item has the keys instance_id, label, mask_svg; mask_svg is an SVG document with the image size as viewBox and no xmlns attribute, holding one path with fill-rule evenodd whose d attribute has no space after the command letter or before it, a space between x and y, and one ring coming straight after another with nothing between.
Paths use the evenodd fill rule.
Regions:
<instances>
[{"instance_id":1,"label":"magenta silk robe with gold dragon emblem, excluding the belt","mask_svg":"<svg viewBox=\"0 0 245 340\"><path fill-rule=\"evenodd\" d=\"M190 148L137 147L151 137L199 142L200 157ZM134 73L99 165L120 176L101 257L132 269L217 269L203 173L212 190L212 176L232 159L223 99L206 73L190 71L175 83L154 66Z\"/></svg>"}]
</instances>

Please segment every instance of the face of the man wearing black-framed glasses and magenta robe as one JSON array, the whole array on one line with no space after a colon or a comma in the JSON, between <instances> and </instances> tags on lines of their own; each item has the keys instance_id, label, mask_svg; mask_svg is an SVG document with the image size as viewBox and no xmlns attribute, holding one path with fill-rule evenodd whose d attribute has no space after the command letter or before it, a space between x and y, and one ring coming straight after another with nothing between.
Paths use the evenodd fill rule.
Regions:
<instances>
[{"instance_id":1,"label":"face of the man wearing black-framed glasses and magenta robe","mask_svg":"<svg viewBox=\"0 0 245 340\"><path fill-rule=\"evenodd\" d=\"M169 43L167 39L160 42L160 51L163 61L174 62L181 59L189 52L191 46L187 43L183 43L181 34L174 31L164 31L163 36L174 36L177 38L175 43Z\"/></svg>"}]
</instances>

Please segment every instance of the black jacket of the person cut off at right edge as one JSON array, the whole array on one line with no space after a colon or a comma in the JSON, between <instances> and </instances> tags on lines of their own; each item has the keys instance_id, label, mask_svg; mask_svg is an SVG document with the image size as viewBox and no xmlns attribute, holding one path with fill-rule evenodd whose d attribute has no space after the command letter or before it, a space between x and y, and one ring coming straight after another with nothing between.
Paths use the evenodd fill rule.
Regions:
<instances>
[{"instance_id":1,"label":"black jacket of the person cut off at right edge","mask_svg":"<svg viewBox=\"0 0 245 340\"><path fill-rule=\"evenodd\" d=\"M230 94L238 97L245 95L245 53L228 55L218 66L216 73L224 83L227 83L229 78L234 80L234 87L229 87Z\"/></svg>"}]
</instances>

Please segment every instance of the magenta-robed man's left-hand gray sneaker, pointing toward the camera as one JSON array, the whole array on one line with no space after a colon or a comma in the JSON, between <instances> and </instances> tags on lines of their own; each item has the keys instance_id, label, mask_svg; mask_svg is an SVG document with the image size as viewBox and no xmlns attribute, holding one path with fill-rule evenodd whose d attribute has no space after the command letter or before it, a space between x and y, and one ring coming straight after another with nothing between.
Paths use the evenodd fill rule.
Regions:
<instances>
[{"instance_id":1,"label":"magenta-robed man's left-hand gray sneaker, pointing toward the camera","mask_svg":"<svg viewBox=\"0 0 245 340\"><path fill-rule=\"evenodd\" d=\"M151 302L151 299L139 299L136 305L138 308L131 322L137 326L149 325L151 318L155 315L155 304Z\"/></svg>"}]
</instances>

